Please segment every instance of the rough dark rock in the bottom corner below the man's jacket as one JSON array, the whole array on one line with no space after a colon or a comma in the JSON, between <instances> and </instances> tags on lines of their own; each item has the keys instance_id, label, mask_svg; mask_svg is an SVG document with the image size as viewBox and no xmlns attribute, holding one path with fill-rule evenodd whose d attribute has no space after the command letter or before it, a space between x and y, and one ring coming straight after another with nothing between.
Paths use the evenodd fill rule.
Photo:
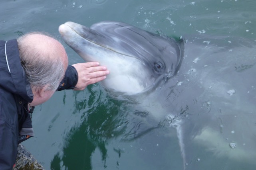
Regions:
<instances>
[{"instance_id":1,"label":"rough dark rock in the bottom corner below the man's jacket","mask_svg":"<svg viewBox=\"0 0 256 170\"><path fill-rule=\"evenodd\" d=\"M18 145L18 153L13 170L44 170L34 156L21 144Z\"/></svg>"}]
</instances>

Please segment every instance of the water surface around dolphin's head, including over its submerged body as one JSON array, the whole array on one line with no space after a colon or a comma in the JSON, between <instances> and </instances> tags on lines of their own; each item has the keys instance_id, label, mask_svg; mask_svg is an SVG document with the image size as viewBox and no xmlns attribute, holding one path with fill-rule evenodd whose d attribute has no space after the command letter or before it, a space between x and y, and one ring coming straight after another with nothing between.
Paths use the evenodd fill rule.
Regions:
<instances>
[{"instance_id":1,"label":"water surface around dolphin's head, including over its submerged body","mask_svg":"<svg viewBox=\"0 0 256 170\"><path fill-rule=\"evenodd\" d=\"M90 26L103 20L183 36L189 46L175 79L182 84L174 89L181 95L170 91L167 98L177 107L166 107L180 113L189 106L184 135L194 139L185 142L187 168L254 170L255 6L254 0L2 0L0 38L46 31L62 41L60 24ZM83 62L65 47L69 64ZM99 84L57 92L36 107L36 136L23 144L46 169L183 169L176 131L164 121L168 112L154 104L140 109L112 98ZM153 119L148 110L161 117Z\"/></svg>"}]
</instances>

